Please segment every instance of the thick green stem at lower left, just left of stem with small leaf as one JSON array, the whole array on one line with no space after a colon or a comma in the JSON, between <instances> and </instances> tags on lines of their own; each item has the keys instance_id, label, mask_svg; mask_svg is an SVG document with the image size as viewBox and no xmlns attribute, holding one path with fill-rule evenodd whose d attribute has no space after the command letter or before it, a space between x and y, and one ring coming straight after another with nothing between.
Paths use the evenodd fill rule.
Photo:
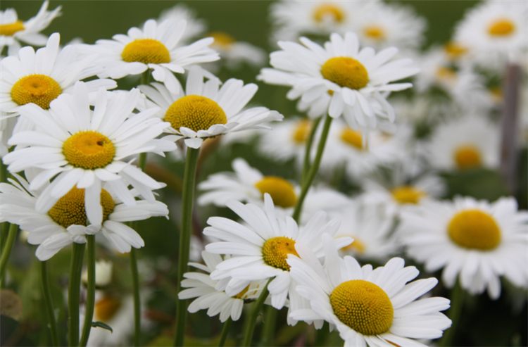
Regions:
<instances>
[{"instance_id":1,"label":"thick green stem at lower left, just left of stem with small leaf","mask_svg":"<svg viewBox=\"0 0 528 347\"><path fill-rule=\"evenodd\" d=\"M79 344L79 298L81 290L82 260L86 244L73 244L68 285L68 346Z\"/></svg>"}]
</instances>

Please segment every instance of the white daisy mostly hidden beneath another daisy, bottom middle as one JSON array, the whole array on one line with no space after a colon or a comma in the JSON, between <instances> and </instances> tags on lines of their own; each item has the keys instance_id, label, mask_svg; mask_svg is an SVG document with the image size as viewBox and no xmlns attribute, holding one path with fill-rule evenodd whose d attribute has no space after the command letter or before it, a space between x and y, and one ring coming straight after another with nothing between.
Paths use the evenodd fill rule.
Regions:
<instances>
[{"instance_id":1,"label":"white daisy mostly hidden beneath another daisy, bottom middle","mask_svg":"<svg viewBox=\"0 0 528 347\"><path fill-rule=\"evenodd\" d=\"M244 308L244 301L256 299L265 286L263 281L253 281L239 293L227 295L225 291L218 291L215 287L218 281L210 279L210 272L215 271L216 265L222 263L223 259L218 254L211 254L206 251L201 253L201 257L206 265L189 263L189 265L203 270L206 274L199 272L187 272L183 275L182 288L178 298L185 300L196 298L189 305L189 312L195 313L199 310L207 310L207 315L213 317L220 313L220 322L225 322L231 317L232 320L239 320Z\"/></svg>"}]
</instances>

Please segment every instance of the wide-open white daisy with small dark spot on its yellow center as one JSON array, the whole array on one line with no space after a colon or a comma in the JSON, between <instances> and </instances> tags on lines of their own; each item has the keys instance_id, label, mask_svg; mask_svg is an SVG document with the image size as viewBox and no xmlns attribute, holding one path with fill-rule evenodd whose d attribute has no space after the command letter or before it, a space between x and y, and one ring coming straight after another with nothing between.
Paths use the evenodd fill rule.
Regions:
<instances>
[{"instance_id":1,"label":"wide-open white daisy with small dark spot on its yellow center","mask_svg":"<svg viewBox=\"0 0 528 347\"><path fill-rule=\"evenodd\" d=\"M11 172L42 169L32 181L32 189L39 189L56 176L39 196L36 209L40 213L46 213L59 198L77 187L87 189L87 213L92 224L98 224L102 217L102 182L108 182L128 206L134 205L134 198L127 184L132 184L150 203L155 202L151 190L164 187L122 159L137 153L174 150L172 141L155 139L168 124L153 117L158 108L132 113L139 101L139 90L107 93L99 89L92 111L86 85L77 82L72 95L62 94L51 101L49 112L33 103L20 108L21 117L40 131L13 135L9 145L26 147L8 153L4 163Z\"/></svg>"}]
</instances>

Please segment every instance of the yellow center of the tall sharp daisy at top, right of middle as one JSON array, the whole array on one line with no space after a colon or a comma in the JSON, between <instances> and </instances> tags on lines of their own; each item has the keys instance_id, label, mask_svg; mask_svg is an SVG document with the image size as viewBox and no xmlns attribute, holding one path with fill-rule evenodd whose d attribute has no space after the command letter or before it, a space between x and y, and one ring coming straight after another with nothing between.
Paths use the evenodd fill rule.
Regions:
<instances>
[{"instance_id":1,"label":"yellow center of the tall sharp daisy at top, right of middle","mask_svg":"<svg viewBox=\"0 0 528 347\"><path fill-rule=\"evenodd\" d=\"M365 66L348 56L329 58L322 65L321 74L327 80L350 89L361 89L368 83L368 72Z\"/></svg>"}]
</instances>

